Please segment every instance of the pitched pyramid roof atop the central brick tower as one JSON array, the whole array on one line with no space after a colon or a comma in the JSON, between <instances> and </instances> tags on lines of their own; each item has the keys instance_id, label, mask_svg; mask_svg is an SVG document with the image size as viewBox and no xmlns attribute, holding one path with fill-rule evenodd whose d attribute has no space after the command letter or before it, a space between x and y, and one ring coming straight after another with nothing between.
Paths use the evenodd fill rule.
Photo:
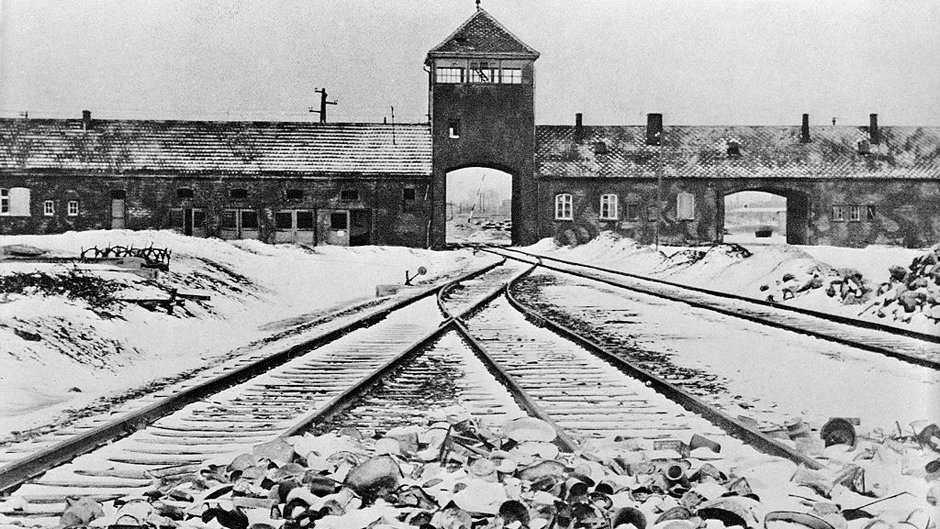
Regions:
<instances>
[{"instance_id":1,"label":"pitched pyramid roof atop the central brick tower","mask_svg":"<svg viewBox=\"0 0 940 529\"><path fill-rule=\"evenodd\" d=\"M428 61L453 57L537 59L539 52L503 27L493 15L477 7L466 22L428 52Z\"/></svg>"}]
</instances>

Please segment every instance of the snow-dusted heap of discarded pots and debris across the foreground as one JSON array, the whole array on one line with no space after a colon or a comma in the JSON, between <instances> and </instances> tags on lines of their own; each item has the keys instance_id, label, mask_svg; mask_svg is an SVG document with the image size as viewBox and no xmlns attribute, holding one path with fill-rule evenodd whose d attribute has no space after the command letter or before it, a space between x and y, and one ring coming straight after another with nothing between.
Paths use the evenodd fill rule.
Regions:
<instances>
[{"instance_id":1,"label":"snow-dusted heap of discarded pots and debris across the foreground","mask_svg":"<svg viewBox=\"0 0 940 529\"><path fill-rule=\"evenodd\" d=\"M822 470L812 470L769 456L732 459L700 435L652 445L595 439L576 454L559 453L553 428L528 417L500 429L468 416L381 435L343 428L218 456L193 474L155 481L139 496L70 502L60 526L936 527L936 425L880 441L829 430ZM20 523L13 520L0 517L0 525Z\"/></svg>"}]
</instances>

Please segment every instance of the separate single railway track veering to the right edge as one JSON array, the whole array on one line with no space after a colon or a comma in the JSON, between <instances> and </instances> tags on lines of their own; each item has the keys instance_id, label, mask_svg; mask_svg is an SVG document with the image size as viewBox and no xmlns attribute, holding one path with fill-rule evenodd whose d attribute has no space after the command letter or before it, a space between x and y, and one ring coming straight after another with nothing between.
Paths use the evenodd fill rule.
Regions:
<instances>
[{"instance_id":1,"label":"separate single railway track veering to the right edge","mask_svg":"<svg viewBox=\"0 0 940 529\"><path fill-rule=\"evenodd\" d=\"M547 270L848 345L919 366L940 369L940 336L540 256L515 248L484 249L522 262L537 261Z\"/></svg>"}]
</instances>

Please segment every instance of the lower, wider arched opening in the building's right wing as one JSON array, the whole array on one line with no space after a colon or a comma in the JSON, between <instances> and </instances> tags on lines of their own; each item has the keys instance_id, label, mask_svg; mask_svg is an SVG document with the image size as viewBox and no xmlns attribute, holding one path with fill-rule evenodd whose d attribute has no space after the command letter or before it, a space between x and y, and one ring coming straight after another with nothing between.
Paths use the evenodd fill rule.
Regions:
<instances>
[{"instance_id":1,"label":"lower, wider arched opening in the building's right wing","mask_svg":"<svg viewBox=\"0 0 940 529\"><path fill-rule=\"evenodd\" d=\"M809 199L803 193L745 190L724 196L722 240L738 244L806 244Z\"/></svg>"}]
</instances>

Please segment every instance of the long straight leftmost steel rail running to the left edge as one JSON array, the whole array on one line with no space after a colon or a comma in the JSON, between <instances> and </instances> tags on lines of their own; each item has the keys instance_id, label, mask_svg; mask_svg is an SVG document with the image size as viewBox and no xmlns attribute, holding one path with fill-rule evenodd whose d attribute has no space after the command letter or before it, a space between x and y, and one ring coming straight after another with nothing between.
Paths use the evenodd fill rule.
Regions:
<instances>
[{"instance_id":1,"label":"long straight leftmost steel rail running to the left edge","mask_svg":"<svg viewBox=\"0 0 940 529\"><path fill-rule=\"evenodd\" d=\"M95 427L88 432L8 463L0 467L0 492L6 492L13 487L19 486L28 479L34 478L51 468L67 463L75 457L90 452L100 446L127 437L188 404L202 400L235 384L250 380L274 367L323 347L330 342L336 341L352 331L372 326L385 319L392 312L411 305L427 296L436 294L439 290L451 283L465 281L484 274L502 265L505 260L506 258L503 257L502 261L497 261L483 268L470 271L455 280L423 289L416 294L396 301L388 307L371 312L338 329L313 337L310 340L293 345L283 351L266 356L255 362L239 366L231 371L188 387L170 397L127 413L118 419Z\"/></svg>"}]
</instances>

